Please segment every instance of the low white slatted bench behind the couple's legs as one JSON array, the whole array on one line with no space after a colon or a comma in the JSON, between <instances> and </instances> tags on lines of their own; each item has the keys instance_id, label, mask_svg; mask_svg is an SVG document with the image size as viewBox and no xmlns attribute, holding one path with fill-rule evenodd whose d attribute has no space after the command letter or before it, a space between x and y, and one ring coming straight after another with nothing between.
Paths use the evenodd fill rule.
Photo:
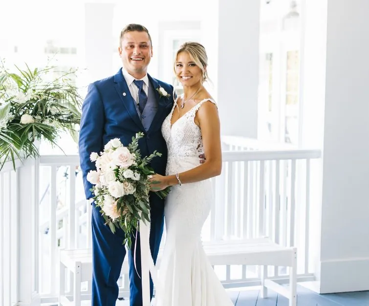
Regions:
<instances>
[{"instance_id":1,"label":"low white slatted bench behind the couple's legs","mask_svg":"<svg viewBox=\"0 0 369 306\"><path fill-rule=\"evenodd\" d=\"M282 247L268 238L204 242L205 252L212 265L260 265L260 296L266 297L267 288L289 299L296 306L296 248ZM157 264L160 262L160 252ZM265 277L268 265L289 267L289 289ZM65 294L65 268L73 274L72 296ZM122 274L128 273L128 261L123 262ZM60 305L80 306L81 300L90 300L92 279L92 252L90 249L60 251ZM81 283L89 282L88 291L81 292Z\"/></svg>"}]
</instances>

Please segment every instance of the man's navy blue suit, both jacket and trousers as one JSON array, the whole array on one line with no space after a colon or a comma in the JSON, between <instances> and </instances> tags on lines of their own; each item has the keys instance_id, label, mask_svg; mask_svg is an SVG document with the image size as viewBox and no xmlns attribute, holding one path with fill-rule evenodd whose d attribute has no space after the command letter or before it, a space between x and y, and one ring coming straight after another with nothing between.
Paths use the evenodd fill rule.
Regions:
<instances>
[{"instance_id":1,"label":"man's navy blue suit, both jacket and trousers","mask_svg":"<svg viewBox=\"0 0 369 306\"><path fill-rule=\"evenodd\" d=\"M112 77L94 82L88 87L88 93L82 106L82 119L79 137L79 155L83 180L87 198L93 197L87 181L87 173L95 170L95 165L89 159L90 153L100 153L110 139L119 138L127 146L132 136L137 132L144 132L145 136L139 140L141 155L147 156L155 150L162 153L161 157L152 159L151 166L158 174L165 175L167 164L167 146L161 134L161 125L173 106L173 87L153 79L149 81L153 87L158 102L157 112L148 131L145 131L135 107L130 89L123 77L122 70ZM169 98L160 97L156 88L163 87L171 94ZM154 193L150 196L151 232L150 249L152 258L156 261L164 226L164 200ZM126 249L122 242L124 232L117 229L112 234L100 208L92 210L92 306L114 306L118 298L117 280L120 276ZM141 279L133 268L141 274L140 235L132 237L132 247L129 251L130 262L130 306L142 306ZM134 263L134 256L136 262ZM153 285L151 282L151 296Z\"/></svg>"}]
</instances>

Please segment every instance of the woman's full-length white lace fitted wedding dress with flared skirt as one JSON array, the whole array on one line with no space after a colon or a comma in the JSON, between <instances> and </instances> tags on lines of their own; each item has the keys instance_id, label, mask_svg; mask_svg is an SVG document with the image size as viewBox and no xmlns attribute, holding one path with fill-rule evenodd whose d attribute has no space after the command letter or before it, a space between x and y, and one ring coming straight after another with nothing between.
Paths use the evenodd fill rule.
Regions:
<instances>
[{"instance_id":1,"label":"woman's full-length white lace fitted wedding dress with flared skirt","mask_svg":"<svg viewBox=\"0 0 369 306\"><path fill-rule=\"evenodd\" d=\"M199 166L203 152L201 131L195 125L199 102L171 126L176 107L161 131L168 146L167 175ZM156 306L233 306L208 261L201 243L201 228L213 201L210 180L173 186L165 203L167 238L159 266Z\"/></svg>"}]
</instances>

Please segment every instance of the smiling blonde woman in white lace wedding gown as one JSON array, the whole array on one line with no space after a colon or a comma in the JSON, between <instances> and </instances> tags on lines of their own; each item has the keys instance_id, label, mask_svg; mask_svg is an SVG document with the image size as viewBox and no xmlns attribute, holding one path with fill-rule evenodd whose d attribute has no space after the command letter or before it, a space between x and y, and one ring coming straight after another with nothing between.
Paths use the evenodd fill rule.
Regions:
<instances>
[{"instance_id":1,"label":"smiling blonde woman in white lace wedding gown","mask_svg":"<svg viewBox=\"0 0 369 306\"><path fill-rule=\"evenodd\" d=\"M207 55L198 43L176 53L174 72L184 94L174 101L162 133L168 146L166 176L153 175L152 189L172 186L165 202L167 239L156 285L156 306L233 306L201 243L213 201L209 178L222 167L217 105L203 87ZM199 154L206 162L198 165Z\"/></svg>"}]
</instances>

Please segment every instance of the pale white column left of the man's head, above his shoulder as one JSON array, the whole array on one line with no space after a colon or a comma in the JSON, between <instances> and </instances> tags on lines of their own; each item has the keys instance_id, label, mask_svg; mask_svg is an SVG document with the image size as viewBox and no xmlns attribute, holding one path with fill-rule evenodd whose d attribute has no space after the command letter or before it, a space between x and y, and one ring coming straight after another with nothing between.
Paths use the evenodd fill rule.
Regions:
<instances>
[{"instance_id":1,"label":"pale white column left of the man's head, above his shoulder","mask_svg":"<svg viewBox=\"0 0 369 306\"><path fill-rule=\"evenodd\" d=\"M85 4L85 61L88 83L113 74L113 51L118 34L113 35L114 3ZM117 42L114 44L114 38Z\"/></svg>"}]
</instances>

